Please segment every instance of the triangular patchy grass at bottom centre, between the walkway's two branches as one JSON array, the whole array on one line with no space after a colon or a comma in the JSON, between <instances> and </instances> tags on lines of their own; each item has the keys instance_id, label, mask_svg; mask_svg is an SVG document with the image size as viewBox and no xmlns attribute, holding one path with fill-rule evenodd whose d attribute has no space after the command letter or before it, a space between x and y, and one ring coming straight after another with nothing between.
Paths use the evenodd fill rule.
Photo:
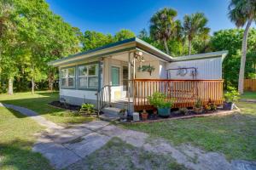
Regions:
<instances>
[{"instance_id":1,"label":"triangular patchy grass at bottom centre, between the walkway's two branches","mask_svg":"<svg viewBox=\"0 0 256 170\"><path fill-rule=\"evenodd\" d=\"M113 138L101 149L67 167L70 170L87 169L186 169L170 156L156 155Z\"/></svg>"}]
</instances>

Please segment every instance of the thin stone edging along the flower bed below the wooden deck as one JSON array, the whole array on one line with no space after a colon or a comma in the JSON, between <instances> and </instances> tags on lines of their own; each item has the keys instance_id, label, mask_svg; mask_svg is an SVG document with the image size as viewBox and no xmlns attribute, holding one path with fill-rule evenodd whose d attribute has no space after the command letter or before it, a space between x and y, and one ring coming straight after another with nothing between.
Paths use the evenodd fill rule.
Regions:
<instances>
[{"instance_id":1,"label":"thin stone edging along the flower bed below the wooden deck","mask_svg":"<svg viewBox=\"0 0 256 170\"><path fill-rule=\"evenodd\" d=\"M123 123L151 123L151 122L165 122L165 121L170 121L170 120L178 120L178 119L189 119L189 118L194 118L194 117L206 117L206 116L227 116L231 115L235 112L240 112L240 109L237 108L236 110L233 111L219 111L218 113L207 113L207 114L201 114L201 115L189 115L189 116L178 116L178 117L171 117L171 118L166 118L166 119L157 119L157 120L148 120L148 121L142 121L142 122L123 122Z\"/></svg>"}]
</instances>

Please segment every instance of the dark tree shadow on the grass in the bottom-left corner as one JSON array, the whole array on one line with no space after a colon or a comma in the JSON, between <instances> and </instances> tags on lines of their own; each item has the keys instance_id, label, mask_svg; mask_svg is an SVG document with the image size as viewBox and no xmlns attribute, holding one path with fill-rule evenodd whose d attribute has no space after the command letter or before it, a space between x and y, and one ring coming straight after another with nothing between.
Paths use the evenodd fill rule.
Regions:
<instances>
[{"instance_id":1,"label":"dark tree shadow on the grass in the bottom-left corner","mask_svg":"<svg viewBox=\"0 0 256 170\"><path fill-rule=\"evenodd\" d=\"M53 169L46 158L32 152L31 146L20 139L0 143L0 169Z\"/></svg>"}]
</instances>

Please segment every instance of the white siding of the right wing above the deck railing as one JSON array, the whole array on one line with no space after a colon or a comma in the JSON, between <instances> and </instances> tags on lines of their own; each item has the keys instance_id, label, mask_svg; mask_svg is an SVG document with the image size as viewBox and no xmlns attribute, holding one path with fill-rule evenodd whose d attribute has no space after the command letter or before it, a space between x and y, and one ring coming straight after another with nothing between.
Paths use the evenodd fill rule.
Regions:
<instances>
[{"instance_id":1,"label":"white siding of the right wing above the deck railing","mask_svg":"<svg viewBox=\"0 0 256 170\"><path fill-rule=\"evenodd\" d=\"M195 67L197 69L196 79L222 79L222 59L195 59L187 61L177 61L166 64L166 69L177 69L178 67ZM192 79L190 71L185 76L177 75L177 71L169 71L169 79Z\"/></svg>"}]
</instances>

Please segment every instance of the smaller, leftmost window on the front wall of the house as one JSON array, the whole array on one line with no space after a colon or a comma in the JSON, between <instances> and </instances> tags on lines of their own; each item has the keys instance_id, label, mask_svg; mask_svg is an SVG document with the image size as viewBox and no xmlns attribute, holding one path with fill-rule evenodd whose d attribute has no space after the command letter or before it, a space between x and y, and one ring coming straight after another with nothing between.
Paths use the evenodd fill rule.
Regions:
<instances>
[{"instance_id":1,"label":"smaller, leftmost window on the front wall of the house","mask_svg":"<svg viewBox=\"0 0 256 170\"><path fill-rule=\"evenodd\" d=\"M75 87L75 67L61 69L61 86L67 88Z\"/></svg>"}]
</instances>

